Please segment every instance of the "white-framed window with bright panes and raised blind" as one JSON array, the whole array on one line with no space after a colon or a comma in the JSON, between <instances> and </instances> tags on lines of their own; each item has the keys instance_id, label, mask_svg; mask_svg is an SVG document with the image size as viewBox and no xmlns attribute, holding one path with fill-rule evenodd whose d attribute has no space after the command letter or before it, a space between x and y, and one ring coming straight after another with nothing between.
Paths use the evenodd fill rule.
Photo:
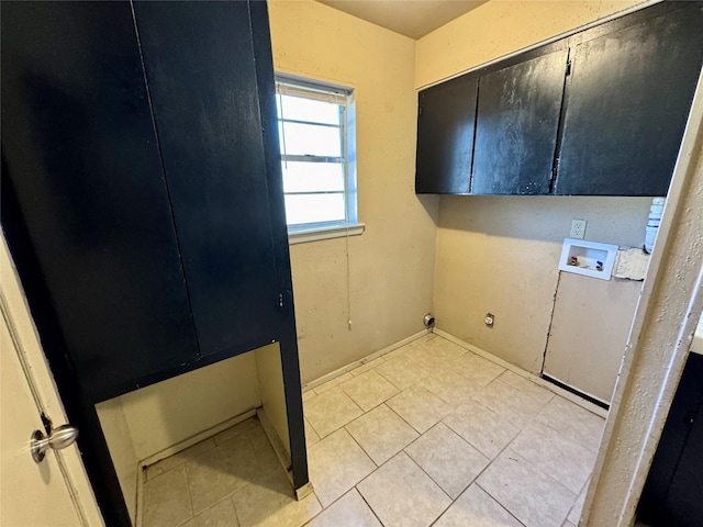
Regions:
<instances>
[{"instance_id":1,"label":"white-framed window with bright panes and raised blind","mask_svg":"<svg viewBox=\"0 0 703 527\"><path fill-rule=\"evenodd\" d=\"M356 225L352 90L278 75L276 93L289 233Z\"/></svg>"}]
</instances>

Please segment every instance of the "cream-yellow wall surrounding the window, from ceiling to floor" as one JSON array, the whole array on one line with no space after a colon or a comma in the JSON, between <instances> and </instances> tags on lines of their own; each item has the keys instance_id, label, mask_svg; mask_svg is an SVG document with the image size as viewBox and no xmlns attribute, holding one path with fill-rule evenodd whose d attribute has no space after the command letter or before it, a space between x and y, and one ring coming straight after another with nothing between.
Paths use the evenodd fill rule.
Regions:
<instances>
[{"instance_id":1,"label":"cream-yellow wall surrounding the window, from ceiling to floor","mask_svg":"<svg viewBox=\"0 0 703 527\"><path fill-rule=\"evenodd\" d=\"M415 42L313 1L269 2L278 71L355 89L366 232L293 245L303 383L423 329L437 199L415 197ZM347 327L347 295L352 327Z\"/></svg>"}]
</instances>

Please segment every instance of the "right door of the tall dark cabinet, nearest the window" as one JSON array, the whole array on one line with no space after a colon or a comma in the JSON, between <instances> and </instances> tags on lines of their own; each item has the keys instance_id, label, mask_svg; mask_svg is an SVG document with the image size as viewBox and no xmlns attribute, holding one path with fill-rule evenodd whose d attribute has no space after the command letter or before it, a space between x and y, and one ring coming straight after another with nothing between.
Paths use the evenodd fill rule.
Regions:
<instances>
[{"instance_id":1,"label":"right door of the tall dark cabinet, nearest the window","mask_svg":"<svg viewBox=\"0 0 703 527\"><path fill-rule=\"evenodd\" d=\"M201 355L248 351L282 323L248 2L134 10Z\"/></svg>"}]
</instances>

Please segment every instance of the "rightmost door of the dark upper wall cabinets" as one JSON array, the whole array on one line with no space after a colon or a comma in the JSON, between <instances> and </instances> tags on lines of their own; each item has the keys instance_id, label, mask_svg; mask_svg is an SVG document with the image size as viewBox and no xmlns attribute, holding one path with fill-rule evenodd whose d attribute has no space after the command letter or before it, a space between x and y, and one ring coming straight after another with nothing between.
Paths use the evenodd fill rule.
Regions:
<instances>
[{"instance_id":1,"label":"rightmost door of the dark upper wall cabinets","mask_svg":"<svg viewBox=\"0 0 703 527\"><path fill-rule=\"evenodd\" d=\"M703 3L576 46L558 194L666 195L703 58Z\"/></svg>"}]
</instances>

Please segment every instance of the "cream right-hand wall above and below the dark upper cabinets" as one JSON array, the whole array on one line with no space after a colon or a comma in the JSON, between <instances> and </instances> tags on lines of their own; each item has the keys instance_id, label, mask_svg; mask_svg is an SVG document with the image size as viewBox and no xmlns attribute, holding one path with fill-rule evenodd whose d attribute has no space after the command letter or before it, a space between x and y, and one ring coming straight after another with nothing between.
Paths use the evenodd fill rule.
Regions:
<instances>
[{"instance_id":1,"label":"cream right-hand wall above and below the dark upper cabinets","mask_svg":"<svg viewBox=\"0 0 703 527\"><path fill-rule=\"evenodd\" d=\"M417 42L415 86L439 81L635 3L488 2ZM443 197L434 290L437 326L538 373L558 257L571 220L588 220L587 239L641 246L649 203L647 198ZM483 324L487 312L495 315L492 328Z\"/></svg>"}]
</instances>

